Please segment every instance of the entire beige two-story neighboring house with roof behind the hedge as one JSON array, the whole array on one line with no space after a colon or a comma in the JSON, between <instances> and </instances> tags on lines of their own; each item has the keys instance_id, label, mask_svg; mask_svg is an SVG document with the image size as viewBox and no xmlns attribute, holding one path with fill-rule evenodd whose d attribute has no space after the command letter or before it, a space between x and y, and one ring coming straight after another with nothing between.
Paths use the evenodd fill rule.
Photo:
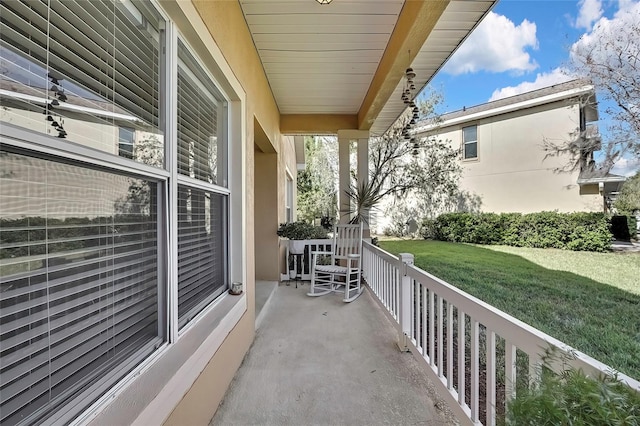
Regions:
<instances>
[{"instance_id":1,"label":"entire beige two-story neighboring house with roof behind the hedge","mask_svg":"<svg viewBox=\"0 0 640 426\"><path fill-rule=\"evenodd\" d=\"M436 128L418 123L416 136L460 148L460 188L478 197L482 211L602 211L624 178L594 174L593 150L576 170L561 171L572 158L543 147L586 138L599 149L597 120L593 86L573 80L445 114Z\"/></svg>"}]
</instances>

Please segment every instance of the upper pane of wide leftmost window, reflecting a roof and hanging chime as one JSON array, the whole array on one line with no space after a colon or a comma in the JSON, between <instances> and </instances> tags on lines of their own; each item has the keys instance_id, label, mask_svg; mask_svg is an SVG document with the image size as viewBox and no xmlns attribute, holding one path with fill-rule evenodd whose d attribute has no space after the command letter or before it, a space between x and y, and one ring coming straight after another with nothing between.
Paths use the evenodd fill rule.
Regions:
<instances>
[{"instance_id":1,"label":"upper pane of wide leftmost window, reflecting a roof and hanging chime","mask_svg":"<svg viewBox=\"0 0 640 426\"><path fill-rule=\"evenodd\" d=\"M14 0L0 15L0 122L162 167L164 21L150 3ZM120 149L121 127L139 155Z\"/></svg>"}]
</instances>

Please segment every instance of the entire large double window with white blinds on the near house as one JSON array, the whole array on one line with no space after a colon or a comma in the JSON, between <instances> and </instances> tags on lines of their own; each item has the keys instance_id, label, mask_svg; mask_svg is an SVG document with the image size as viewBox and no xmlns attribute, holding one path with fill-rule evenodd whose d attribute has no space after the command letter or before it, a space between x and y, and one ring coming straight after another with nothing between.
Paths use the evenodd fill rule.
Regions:
<instances>
[{"instance_id":1,"label":"entire large double window with white blinds on the near house","mask_svg":"<svg viewBox=\"0 0 640 426\"><path fill-rule=\"evenodd\" d=\"M2 426L70 421L227 288L227 103L154 4L0 1Z\"/></svg>"}]
</instances>

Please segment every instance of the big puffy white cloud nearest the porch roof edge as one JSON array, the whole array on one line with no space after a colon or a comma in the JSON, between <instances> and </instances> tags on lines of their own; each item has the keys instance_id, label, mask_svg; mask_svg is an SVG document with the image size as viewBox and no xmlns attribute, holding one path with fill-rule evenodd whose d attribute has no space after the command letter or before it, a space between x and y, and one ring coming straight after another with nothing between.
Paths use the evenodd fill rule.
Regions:
<instances>
[{"instance_id":1,"label":"big puffy white cloud nearest the porch roof edge","mask_svg":"<svg viewBox=\"0 0 640 426\"><path fill-rule=\"evenodd\" d=\"M503 15L489 12L445 65L443 71L458 75L478 71L532 71L538 64L527 48L537 49L536 24L515 25Z\"/></svg>"}]
</instances>

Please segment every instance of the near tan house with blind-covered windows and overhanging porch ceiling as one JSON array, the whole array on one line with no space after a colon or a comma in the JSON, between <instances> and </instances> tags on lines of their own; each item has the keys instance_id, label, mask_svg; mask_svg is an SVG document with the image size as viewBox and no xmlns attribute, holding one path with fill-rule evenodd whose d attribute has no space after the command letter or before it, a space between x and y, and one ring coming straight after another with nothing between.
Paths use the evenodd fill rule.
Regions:
<instances>
[{"instance_id":1,"label":"near tan house with blind-covered windows and overhanging porch ceiling","mask_svg":"<svg viewBox=\"0 0 640 426\"><path fill-rule=\"evenodd\" d=\"M338 135L345 188L405 70L494 4L0 2L0 423L208 424L279 278L294 136Z\"/></svg>"}]
</instances>

